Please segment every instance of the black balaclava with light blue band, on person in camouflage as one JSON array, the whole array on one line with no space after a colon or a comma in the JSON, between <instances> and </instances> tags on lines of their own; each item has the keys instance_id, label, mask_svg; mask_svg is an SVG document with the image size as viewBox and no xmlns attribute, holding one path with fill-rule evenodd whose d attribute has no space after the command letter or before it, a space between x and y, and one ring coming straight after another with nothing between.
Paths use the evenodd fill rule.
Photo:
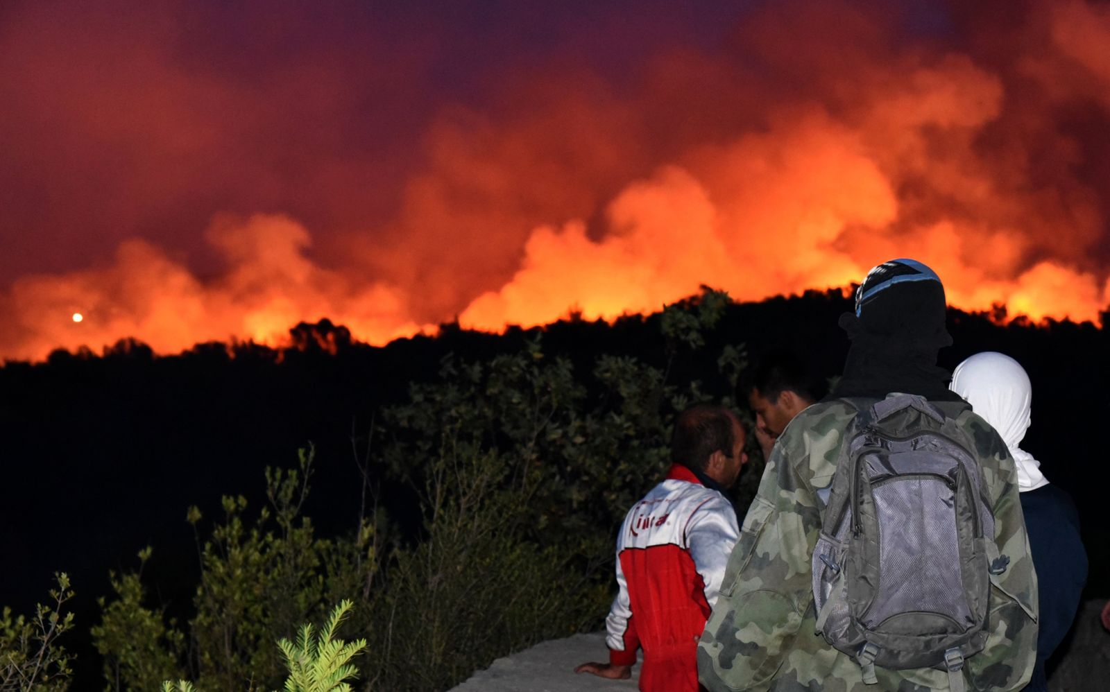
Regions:
<instances>
[{"instance_id":1,"label":"black balaclava with light blue band, on person in camouflage","mask_svg":"<svg viewBox=\"0 0 1110 692\"><path fill-rule=\"evenodd\" d=\"M937 352L951 346L945 326L945 286L915 260L891 260L871 269L856 292L856 313L840 316L851 339L844 376L829 395L878 397L891 391L959 400Z\"/></svg>"}]
</instances>

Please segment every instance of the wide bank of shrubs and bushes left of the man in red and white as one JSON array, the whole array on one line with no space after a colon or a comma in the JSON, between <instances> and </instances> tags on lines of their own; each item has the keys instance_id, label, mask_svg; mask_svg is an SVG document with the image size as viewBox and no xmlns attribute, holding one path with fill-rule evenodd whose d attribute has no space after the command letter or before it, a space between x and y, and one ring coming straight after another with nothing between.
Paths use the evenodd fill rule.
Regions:
<instances>
[{"instance_id":1,"label":"wide bank of shrubs and bushes left of the man in red and white","mask_svg":"<svg viewBox=\"0 0 1110 692\"><path fill-rule=\"evenodd\" d=\"M700 349L725 306L710 293L668 308L668 353ZM734 386L741 350L704 355ZM706 398L699 389L627 356L577 374L541 338L486 362L445 358L434 381L376 419L353 533L320 538L302 515L312 472L302 452L299 469L266 472L256 518L245 499L224 498L223 520L201 541L188 622L149 607L139 574L113 576L117 598L92 632L105 676L113 689L182 676L269 689L285 674L273 641L343 598L356 601L352 628L373 652L361 676L370 689L443 690L514 649L595 628L612 527L660 476L670 420ZM411 492L418 527L391 521L379 479Z\"/></svg>"}]
</instances>

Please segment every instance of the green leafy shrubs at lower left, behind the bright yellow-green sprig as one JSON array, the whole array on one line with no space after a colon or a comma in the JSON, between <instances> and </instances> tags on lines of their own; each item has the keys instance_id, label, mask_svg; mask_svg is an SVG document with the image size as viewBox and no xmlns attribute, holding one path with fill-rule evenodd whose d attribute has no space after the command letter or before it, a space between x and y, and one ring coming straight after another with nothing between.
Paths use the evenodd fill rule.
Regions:
<instances>
[{"instance_id":1,"label":"green leafy shrubs at lower left, behind the bright yellow-green sprig","mask_svg":"<svg viewBox=\"0 0 1110 692\"><path fill-rule=\"evenodd\" d=\"M101 599L102 621L92 629L110 690L151 690L186 672L210 690L266 688L284 678L273 642L320 614L330 600L330 577L365 564L347 559L352 547L315 537L311 520L300 515L312 462L307 449L297 469L266 469L270 506L253 519L244 498L223 498L223 521L201 548L195 615L188 627L147 603L140 573L112 576L117 599ZM198 527L202 518L190 508L188 519ZM139 557L145 562L150 550ZM340 581L356 579L344 574Z\"/></svg>"}]
</instances>

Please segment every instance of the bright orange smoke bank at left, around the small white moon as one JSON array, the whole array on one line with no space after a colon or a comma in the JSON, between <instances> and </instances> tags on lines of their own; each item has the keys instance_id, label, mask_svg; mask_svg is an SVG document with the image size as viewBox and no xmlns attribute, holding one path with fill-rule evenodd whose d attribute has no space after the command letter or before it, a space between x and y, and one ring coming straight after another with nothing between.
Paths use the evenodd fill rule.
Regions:
<instances>
[{"instance_id":1,"label":"bright orange smoke bank at left, around the small white moon","mask_svg":"<svg viewBox=\"0 0 1110 692\"><path fill-rule=\"evenodd\" d=\"M393 288L355 286L310 262L309 234L287 217L221 217L206 237L231 266L211 283L138 240L120 245L111 266L18 279L6 303L24 336L2 355L39 359L129 336L162 354L231 338L281 344L296 323L324 318L374 343L421 330ZM80 323L71 316L78 307Z\"/></svg>"}]
</instances>

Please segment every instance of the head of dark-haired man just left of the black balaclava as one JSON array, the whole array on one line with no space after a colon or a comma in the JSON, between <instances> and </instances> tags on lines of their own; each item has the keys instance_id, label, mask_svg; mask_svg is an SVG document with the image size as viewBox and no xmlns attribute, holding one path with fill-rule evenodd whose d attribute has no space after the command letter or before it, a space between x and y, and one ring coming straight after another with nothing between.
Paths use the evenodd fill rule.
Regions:
<instances>
[{"instance_id":1,"label":"head of dark-haired man just left of the black balaclava","mask_svg":"<svg viewBox=\"0 0 1110 692\"><path fill-rule=\"evenodd\" d=\"M748 404L756 414L756 440L764 459L770 457L786 425L818 398L809 372L794 354L774 350L759 359L749 380Z\"/></svg>"}]
</instances>

